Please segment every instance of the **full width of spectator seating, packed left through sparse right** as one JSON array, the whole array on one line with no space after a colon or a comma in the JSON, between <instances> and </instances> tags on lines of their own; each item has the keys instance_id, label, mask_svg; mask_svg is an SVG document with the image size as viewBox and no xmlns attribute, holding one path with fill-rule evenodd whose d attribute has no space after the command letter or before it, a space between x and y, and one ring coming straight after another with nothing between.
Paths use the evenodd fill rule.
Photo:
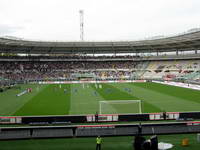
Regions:
<instances>
[{"instance_id":1,"label":"full width of spectator seating, packed left through sparse right","mask_svg":"<svg viewBox=\"0 0 200 150\"><path fill-rule=\"evenodd\" d=\"M76 78L91 74L102 79L200 80L199 60L180 61L0 61L0 78L10 80L49 80Z\"/></svg>"}]
</instances>

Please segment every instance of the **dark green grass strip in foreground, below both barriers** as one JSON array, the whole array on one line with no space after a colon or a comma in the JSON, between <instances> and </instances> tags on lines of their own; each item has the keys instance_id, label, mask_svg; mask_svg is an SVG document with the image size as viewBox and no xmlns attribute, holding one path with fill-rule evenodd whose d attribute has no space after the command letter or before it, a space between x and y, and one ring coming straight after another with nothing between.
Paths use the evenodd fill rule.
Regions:
<instances>
[{"instance_id":1,"label":"dark green grass strip in foreground, below both barriers","mask_svg":"<svg viewBox=\"0 0 200 150\"><path fill-rule=\"evenodd\" d=\"M149 137L146 137L148 139ZM182 147L181 141L189 139L189 146ZM158 136L159 142L172 143L171 150L199 150L196 134ZM133 137L104 137L102 150L132 150ZM63 138L0 141L1 150L94 150L95 138Z\"/></svg>"}]
</instances>

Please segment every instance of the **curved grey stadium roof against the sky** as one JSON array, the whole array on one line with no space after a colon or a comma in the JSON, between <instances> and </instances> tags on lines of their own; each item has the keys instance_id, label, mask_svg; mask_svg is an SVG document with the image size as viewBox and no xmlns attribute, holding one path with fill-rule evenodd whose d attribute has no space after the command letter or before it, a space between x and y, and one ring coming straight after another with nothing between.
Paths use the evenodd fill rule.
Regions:
<instances>
[{"instance_id":1,"label":"curved grey stadium roof against the sky","mask_svg":"<svg viewBox=\"0 0 200 150\"><path fill-rule=\"evenodd\" d=\"M76 54L76 53L145 53L200 49L200 31L141 41L47 42L0 38L1 53Z\"/></svg>"}]
</instances>

